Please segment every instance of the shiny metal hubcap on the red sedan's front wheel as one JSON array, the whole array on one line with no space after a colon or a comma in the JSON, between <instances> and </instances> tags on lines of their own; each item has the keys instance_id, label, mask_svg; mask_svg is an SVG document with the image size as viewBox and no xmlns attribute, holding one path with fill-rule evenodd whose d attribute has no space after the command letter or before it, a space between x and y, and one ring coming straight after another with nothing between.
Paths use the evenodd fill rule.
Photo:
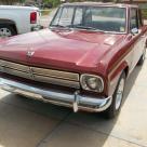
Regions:
<instances>
[{"instance_id":1,"label":"shiny metal hubcap on the red sedan's front wheel","mask_svg":"<svg viewBox=\"0 0 147 147\"><path fill-rule=\"evenodd\" d=\"M118 86L117 95L116 95L116 110L120 108L122 97L123 97L123 90L124 90L124 79L121 79Z\"/></svg>"}]
</instances>

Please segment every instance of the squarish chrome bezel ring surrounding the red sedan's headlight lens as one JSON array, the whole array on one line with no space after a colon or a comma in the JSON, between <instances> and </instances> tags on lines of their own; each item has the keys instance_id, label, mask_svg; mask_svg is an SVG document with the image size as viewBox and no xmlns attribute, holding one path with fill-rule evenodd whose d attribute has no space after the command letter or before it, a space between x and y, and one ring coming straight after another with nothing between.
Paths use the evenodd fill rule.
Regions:
<instances>
[{"instance_id":1,"label":"squarish chrome bezel ring surrounding the red sedan's headlight lens","mask_svg":"<svg viewBox=\"0 0 147 147\"><path fill-rule=\"evenodd\" d=\"M99 89L98 88L92 89L89 85L88 79L91 79L91 78L95 78L98 82L101 82L101 88ZM102 93L104 91L104 80L99 76L83 74L80 77L80 84L81 84L82 89L86 90L86 91L93 91L93 92L98 92L98 93ZM97 86L98 86L98 84L97 84Z\"/></svg>"}]
</instances>

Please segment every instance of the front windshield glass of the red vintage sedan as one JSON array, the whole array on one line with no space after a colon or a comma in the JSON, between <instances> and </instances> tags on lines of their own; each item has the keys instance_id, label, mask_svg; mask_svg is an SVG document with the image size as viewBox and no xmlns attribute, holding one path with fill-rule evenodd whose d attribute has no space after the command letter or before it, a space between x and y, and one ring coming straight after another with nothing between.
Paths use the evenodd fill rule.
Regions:
<instances>
[{"instance_id":1,"label":"front windshield glass of the red vintage sedan","mask_svg":"<svg viewBox=\"0 0 147 147\"><path fill-rule=\"evenodd\" d=\"M51 27L125 31L125 9L115 6L62 6Z\"/></svg>"}]
</instances>

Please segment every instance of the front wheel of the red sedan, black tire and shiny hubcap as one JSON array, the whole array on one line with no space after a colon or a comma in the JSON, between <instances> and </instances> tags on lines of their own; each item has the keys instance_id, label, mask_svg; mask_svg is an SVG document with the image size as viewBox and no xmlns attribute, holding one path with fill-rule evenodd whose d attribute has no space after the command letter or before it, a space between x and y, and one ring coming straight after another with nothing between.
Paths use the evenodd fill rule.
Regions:
<instances>
[{"instance_id":1,"label":"front wheel of the red sedan, black tire and shiny hubcap","mask_svg":"<svg viewBox=\"0 0 147 147\"><path fill-rule=\"evenodd\" d=\"M107 119L112 119L119 113L123 99L124 85L125 85L125 72L123 71L120 76L118 85L112 95L112 103L110 107L105 111L105 116Z\"/></svg>"}]
</instances>

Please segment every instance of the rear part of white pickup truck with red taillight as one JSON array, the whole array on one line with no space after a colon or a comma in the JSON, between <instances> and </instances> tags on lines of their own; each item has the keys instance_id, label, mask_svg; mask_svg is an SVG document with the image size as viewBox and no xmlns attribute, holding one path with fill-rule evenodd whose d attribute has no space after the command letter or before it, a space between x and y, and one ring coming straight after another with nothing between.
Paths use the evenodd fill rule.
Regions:
<instances>
[{"instance_id":1,"label":"rear part of white pickup truck with red taillight","mask_svg":"<svg viewBox=\"0 0 147 147\"><path fill-rule=\"evenodd\" d=\"M31 31L40 23L38 8L0 5L0 36L14 36Z\"/></svg>"}]
</instances>

